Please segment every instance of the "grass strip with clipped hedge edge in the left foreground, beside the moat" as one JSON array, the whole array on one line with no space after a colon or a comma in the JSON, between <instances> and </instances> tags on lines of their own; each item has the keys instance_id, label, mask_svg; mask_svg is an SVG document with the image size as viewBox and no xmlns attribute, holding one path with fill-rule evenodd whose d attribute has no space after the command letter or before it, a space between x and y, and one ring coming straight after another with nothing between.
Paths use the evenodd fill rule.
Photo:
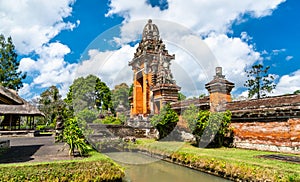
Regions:
<instances>
[{"instance_id":1,"label":"grass strip with clipped hedge edge in the left foreground, beside the moat","mask_svg":"<svg viewBox=\"0 0 300 182\"><path fill-rule=\"evenodd\" d=\"M90 157L44 163L1 164L0 181L122 181L123 169L95 151Z\"/></svg>"}]
</instances>

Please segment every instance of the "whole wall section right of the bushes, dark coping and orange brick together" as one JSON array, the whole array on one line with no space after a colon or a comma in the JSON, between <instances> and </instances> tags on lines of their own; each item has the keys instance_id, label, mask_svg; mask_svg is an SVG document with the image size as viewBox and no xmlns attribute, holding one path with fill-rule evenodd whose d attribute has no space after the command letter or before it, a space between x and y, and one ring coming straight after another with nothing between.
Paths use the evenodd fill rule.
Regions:
<instances>
[{"instance_id":1,"label":"whole wall section right of the bushes, dark coping and orange brick together","mask_svg":"<svg viewBox=\"0 0 300 182\"><path fill-rule=\"evenodd\" d=\"M300 153L300 95L231 102L227 109L236 147Z\"/></svg>"}]
</instances>

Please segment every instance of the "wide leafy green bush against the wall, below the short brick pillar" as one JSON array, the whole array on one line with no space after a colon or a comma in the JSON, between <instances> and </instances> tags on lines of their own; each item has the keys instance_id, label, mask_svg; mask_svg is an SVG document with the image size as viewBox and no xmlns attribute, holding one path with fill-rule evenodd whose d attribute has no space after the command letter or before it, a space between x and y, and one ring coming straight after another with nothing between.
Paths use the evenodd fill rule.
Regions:
<instances>
[{"instance_id":1,"label":"wide leafy green bush against the wall, below the short brick pillar","mask_svg":"<svg viewBox=\"0 0 300 182\"><path fill-rule=\"evenodd\" d=\"M220 147L223 145L224 136L230 132L230 111L211 113L208 110L198 111L191 105L183 112L182 118L187 121L198 144L201 140L209 143L214 139L210 145Z\"/></svg>"}]
</instances>

